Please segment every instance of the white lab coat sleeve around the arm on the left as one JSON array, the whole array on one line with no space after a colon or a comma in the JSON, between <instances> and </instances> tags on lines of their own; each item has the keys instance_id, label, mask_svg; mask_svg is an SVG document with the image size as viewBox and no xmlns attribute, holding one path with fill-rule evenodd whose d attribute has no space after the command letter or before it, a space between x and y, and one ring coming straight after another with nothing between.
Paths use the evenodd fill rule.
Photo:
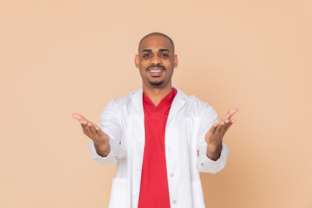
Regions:
<instances>
[{"instance_id":1,"label":"white lab coat sleeve around the arm on the left","mask_svg":"<svg viewBox=\"0 0 312 208\"><path fill-rule=\"evenodd\" d=\"M117 162L119 158L125 156L125 151L121 146L122 125L118 111L114 105L114 100L111 100L101 113L99 127L109 136L111 151L106 157L101 157L97 154L94 142L91 140L89 144L91 157L103 165Z\"/></svg>"}]
</instances>

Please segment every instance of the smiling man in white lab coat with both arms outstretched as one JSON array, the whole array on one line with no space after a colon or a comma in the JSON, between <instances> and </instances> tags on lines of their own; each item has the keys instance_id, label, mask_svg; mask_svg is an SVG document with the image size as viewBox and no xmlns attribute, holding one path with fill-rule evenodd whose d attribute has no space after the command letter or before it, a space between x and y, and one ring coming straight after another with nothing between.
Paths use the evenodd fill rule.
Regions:
<instances>
[{"instance_id":1,"label":"smiling man in white lab coat with both arms outstretched","mask_svg":"<svg viewBox=\"0 0 312 208\"><path fill-rule=\"evenodd\" d=\"M168 36L148 34L135 56L143 87L111 100L99 126L72 115L92 140L92 158L117 162L109 208L204 208L199 171L226 164L222 138L238 108L218 121L210 105L172 87L177 62Z\"/></svg>"}]
</instances>

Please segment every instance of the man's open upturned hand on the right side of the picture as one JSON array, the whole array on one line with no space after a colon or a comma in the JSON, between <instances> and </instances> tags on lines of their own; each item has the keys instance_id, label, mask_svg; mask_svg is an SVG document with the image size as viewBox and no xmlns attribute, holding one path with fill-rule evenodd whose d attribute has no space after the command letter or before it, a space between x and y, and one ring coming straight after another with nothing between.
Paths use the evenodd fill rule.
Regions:
<instances>
[{"instance_id":1,"label":"man's open upturned hand on the right side of the picture","mask_svg":"<svg viewBox=\"0 0 312 208\"><path fill-rule=\"evenodd\" d=\"M222 139L229 127L235 123L231 117L238 111L238 108L230 109L218 123L211 126L205 135L207 142L207 157L211 160L218 160L222 151Z\"/></svg>"}]
</instances>

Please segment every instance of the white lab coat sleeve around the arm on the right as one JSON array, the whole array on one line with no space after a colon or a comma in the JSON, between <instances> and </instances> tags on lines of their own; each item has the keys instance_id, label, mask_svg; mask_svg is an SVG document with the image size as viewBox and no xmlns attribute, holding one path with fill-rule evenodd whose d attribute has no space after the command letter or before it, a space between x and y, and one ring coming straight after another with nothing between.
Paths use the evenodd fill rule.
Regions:
<instances>
[{"instance_id":1,"label":"white lab coat sleeve around the arm on the right","mask_svg":"<svg viewBox=\"0 0 312 208\"><path fill-rule=\"evenodd\" d=\"M226 160L229 155L229 149L225 144L222 144L221 156L217 161L210 160L207 157L207 143L205 141L205 135L211 126L218 121L216 111L207 104L197 133L198 159L196 168L200 172L215 174L225 167Z\"/></svg>"}]
</instances>

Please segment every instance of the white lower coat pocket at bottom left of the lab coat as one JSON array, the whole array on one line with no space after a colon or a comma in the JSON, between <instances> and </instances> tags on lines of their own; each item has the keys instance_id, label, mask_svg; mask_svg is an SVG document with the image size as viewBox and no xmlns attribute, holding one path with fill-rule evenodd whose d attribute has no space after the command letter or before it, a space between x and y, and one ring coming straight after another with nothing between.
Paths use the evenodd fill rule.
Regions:
<instances>
[{"instance_id":1,"label":"white lower coat pocket at bottom left of the lab coat","mask_svg":"<svg viewBox=\"0 0 312 208\"><path fill-rule=\"evenodd\" d=\"M113 179L109 208L127 208L127 187L127 179Z\"/></svg>"}]
</instances>

